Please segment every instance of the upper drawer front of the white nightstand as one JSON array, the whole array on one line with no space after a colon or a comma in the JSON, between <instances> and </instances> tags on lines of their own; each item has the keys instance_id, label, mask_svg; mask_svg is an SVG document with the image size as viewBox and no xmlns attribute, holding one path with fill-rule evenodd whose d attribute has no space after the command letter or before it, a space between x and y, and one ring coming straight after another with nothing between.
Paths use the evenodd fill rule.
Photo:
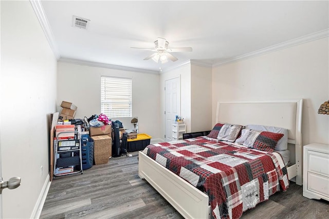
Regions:
<instances>
[{"instance_id":1,"label":"upper drawer front of the white nightstand","mask_svg":"<svg viewBox=\"0 0 329 219\"><path fill-rule=\"evenodd\" d=\"M308 151L308 171L329 177L329 154Z\"/></svg>"}]
</instances>

